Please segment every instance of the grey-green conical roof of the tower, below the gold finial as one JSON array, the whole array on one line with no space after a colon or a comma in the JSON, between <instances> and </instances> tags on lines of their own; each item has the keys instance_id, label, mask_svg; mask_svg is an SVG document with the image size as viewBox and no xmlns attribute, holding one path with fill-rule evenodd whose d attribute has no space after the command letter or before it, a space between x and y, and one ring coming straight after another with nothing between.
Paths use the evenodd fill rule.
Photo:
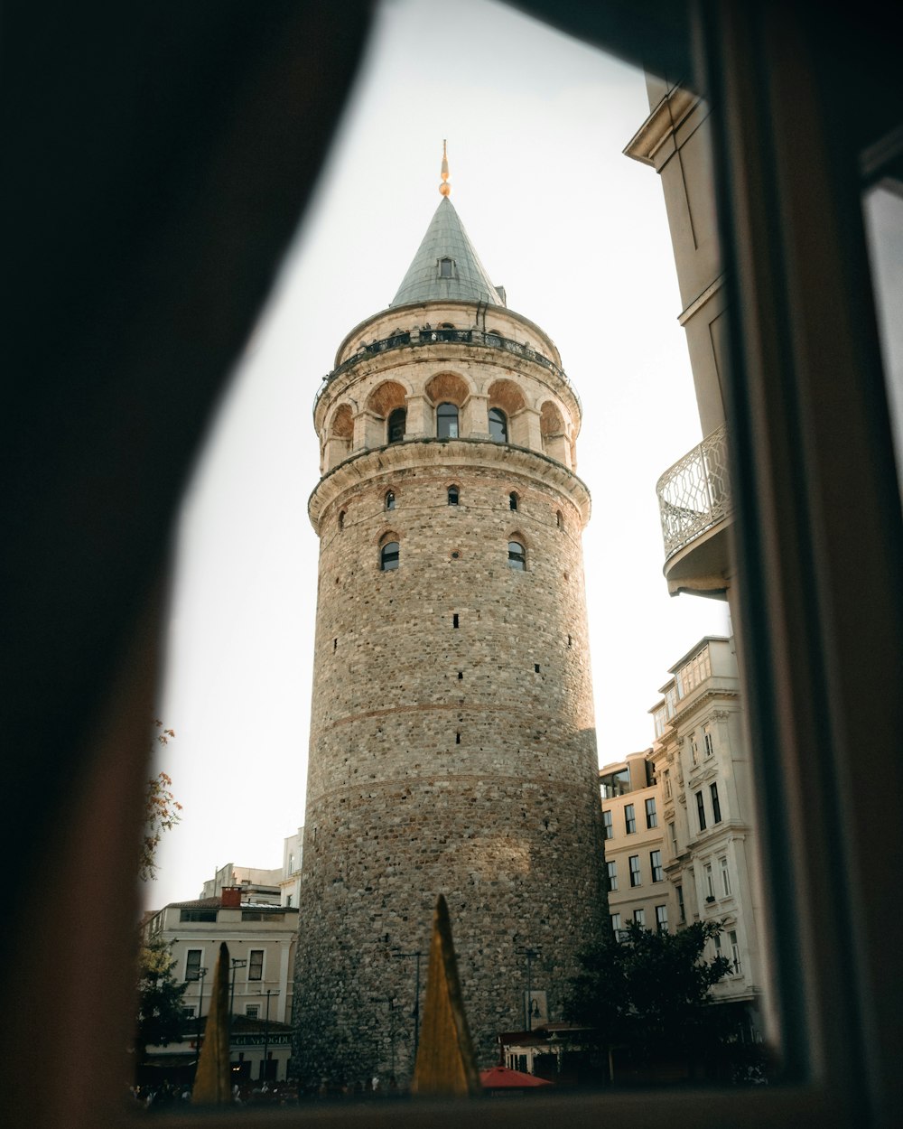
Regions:
<instances>
[{"instance_id":1,"label":"grey-green conical roof of the tower, below the gold finial","mask_svg":"<svg viewBox=\"0 0 903 1129\"><path fill-rule=\"evenodd\" d=\"M450 266L444 266L442 260L450 260ZM414 261L389 306L449 298L505 305L446 195L436 209Z\"/></svg>"}]
</instances>

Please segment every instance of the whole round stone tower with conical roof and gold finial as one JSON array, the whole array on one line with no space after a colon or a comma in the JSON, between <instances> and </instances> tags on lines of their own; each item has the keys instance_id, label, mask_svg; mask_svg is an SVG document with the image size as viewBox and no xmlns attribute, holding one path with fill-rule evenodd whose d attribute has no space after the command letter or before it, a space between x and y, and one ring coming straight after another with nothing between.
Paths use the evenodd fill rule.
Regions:
<instances>
[{"instance_id":1,"label":"whole round stone tower with conical roof and gold finial","mask_svg":"<svg viewBox=\"0 0 903 1129\"><path fill-rule=\"evenodd\" d=\"M580 402L448 199L389 307L339 348L322 478L293 1069L413 1066L448 900L480 1065L561 1018L605 916L575 473ZM527 991L529 988L529 1000ZM532 1017L527 1017L527 1012Z\"/></svg>"}]
</instances>

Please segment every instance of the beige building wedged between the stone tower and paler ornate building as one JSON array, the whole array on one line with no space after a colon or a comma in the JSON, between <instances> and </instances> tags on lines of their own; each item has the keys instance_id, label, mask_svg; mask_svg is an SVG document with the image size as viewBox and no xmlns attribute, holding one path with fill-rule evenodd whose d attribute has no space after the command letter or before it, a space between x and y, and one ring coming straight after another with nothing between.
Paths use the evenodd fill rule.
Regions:
<instances>
[{"instance_id":1,"label":"beige building wedged between the stone tower and paler ornate building","mask_svg":"<svg viewBox=\"0 0 903 1129\"><path fill-rule=\"evenodd\" d=\"M673 928L674 887L665 874L661 796L647 750L599 769L608 918L617 934L628 925Z\"/></svg>"}]
</instances>

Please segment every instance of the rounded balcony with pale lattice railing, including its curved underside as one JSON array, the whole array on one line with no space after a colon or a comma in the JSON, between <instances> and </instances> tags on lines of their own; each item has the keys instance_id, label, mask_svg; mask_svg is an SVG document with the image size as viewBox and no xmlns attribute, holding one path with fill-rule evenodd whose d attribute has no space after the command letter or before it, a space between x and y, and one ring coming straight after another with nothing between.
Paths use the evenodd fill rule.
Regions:
<instances>
[{"instance_id":1,"label":"rounded balcony with pale lattice railing, including its curved underside","mask_svg":"<svg viewBox=\"0 0 903 1129\"><path fill-rule=\"evenodd\" d=\"M668 590L724 598L730 569L727 531L734 513L726 425L665 471L656 493Z\"/></svg>"}]
</instances>

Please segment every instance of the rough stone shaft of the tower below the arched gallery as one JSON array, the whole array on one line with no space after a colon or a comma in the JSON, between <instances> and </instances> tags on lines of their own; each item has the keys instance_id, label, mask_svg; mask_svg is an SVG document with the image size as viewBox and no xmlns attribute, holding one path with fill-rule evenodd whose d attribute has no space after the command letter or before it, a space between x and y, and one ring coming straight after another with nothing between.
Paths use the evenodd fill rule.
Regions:
<instances>
[{"instance_id":1,"label":"rough stone shaft of the tower below the arched gallery","mask_svg":"<svg viewBox=\"0 0 903 1129\"><path fill-rule=\"evenodd\" d=\"M440 893L485 1067L497 1033L524 1026L518 949L538 951L531 987L561 1018L577 953L607 920L588 495L541 452L419 437L353 453L309 508L321 559L293 1069L309 1083L410 1078L404 954L423 954L422 999ZM400 561L383 571L386 541ZM509 541L526 570L509 566Z\"/></svg>"}]
</instances>

